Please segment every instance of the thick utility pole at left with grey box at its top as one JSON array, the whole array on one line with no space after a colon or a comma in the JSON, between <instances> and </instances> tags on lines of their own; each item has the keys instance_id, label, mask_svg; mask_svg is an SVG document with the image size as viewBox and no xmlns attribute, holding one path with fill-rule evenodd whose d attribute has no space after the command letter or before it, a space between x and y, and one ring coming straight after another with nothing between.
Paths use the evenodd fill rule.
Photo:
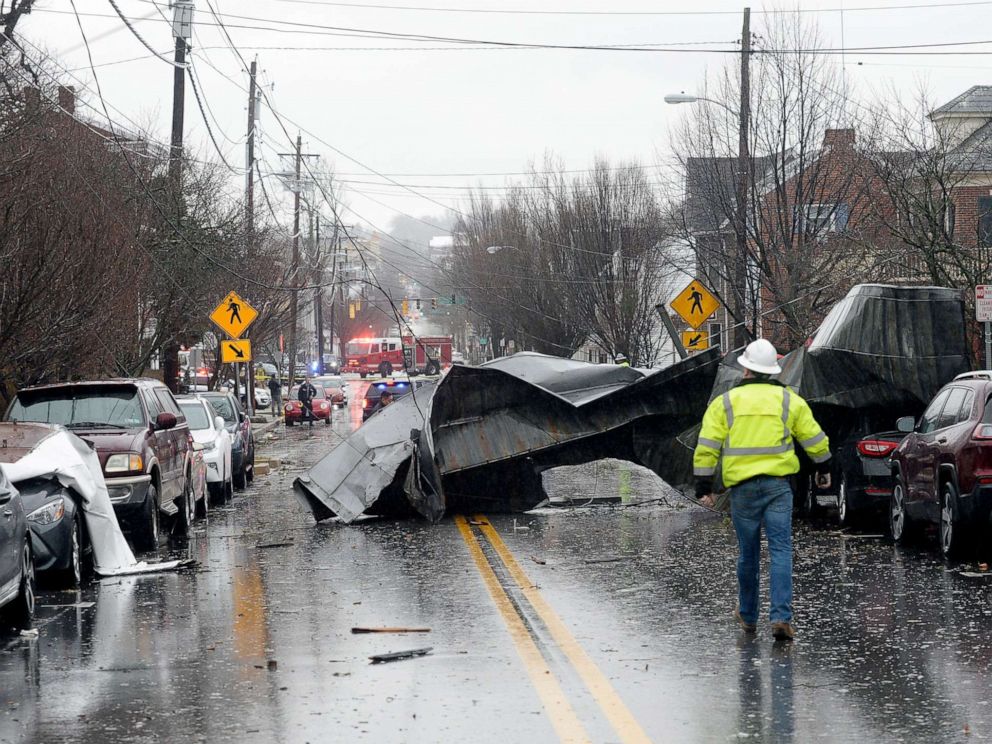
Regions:
<instances>
[{"instance_id":1,"label":"thick utility pole at left with grey box at its top","mask_svg":"<svg viewBox=\"0 0 992 744\"><path fill-rule=\"evenodd\" d=\"M186 39L193 36L193 2L176 0L172 6L172 33L176 37L175 66L172 68L172 138L169 142L169 185L175 205L176 226L183 217L183 116L186 99ZM179 330L179 329L175 329ZM162 378L173 393L179 392L179 339L173 338L162 349Z\"/></svg>"}]
</instances>

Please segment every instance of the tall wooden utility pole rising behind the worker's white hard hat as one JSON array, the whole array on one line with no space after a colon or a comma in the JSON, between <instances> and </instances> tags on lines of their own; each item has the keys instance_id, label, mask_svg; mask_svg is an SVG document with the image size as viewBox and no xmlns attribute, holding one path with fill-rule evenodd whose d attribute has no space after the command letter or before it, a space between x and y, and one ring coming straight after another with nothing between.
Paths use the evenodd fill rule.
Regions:
<instances>
[{"instance_id":1,"label":"tall wooden utility pole rising behind the worker's white hard hat","mask_svg":"<svg viewBox=\"0 0 992 744\"><path fill-rule=\"evenodd\" d=\"M748 187L751 179L750 123L751 123L751 9L744 8L744 25L741 29L741 102L738 108L737 142L737 218L735 220L737 250L734 256L733 276L736 286L731 292L731 315L735 318L731 336L735 349L741 349L751 340L747 327L746 305L748 285L747 265L747 213ZM757 288L755 291L758 291Z\"/></svg>"}]
</instances>

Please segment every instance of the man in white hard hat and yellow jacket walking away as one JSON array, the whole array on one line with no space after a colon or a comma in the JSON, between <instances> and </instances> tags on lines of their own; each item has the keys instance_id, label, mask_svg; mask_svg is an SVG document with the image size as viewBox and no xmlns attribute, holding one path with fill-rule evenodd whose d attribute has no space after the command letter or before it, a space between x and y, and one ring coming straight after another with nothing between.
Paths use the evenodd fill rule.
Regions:
<instances>
[{"instance_id":1,"label":"man in white hard hat and yellow jacket walking away","mask_svg":"<svg viewBox=\"0 0 992 744\"><path fill-rule=\"evenodd\" d=\"M816 465L816 484L830 487L830 442L809 405L771 379L782 371L775 347L764 339L748 344L737 357L744 379L710 403L693 454L696 498L713 506L713 478L721 464L730 489L730 515L737 533L737 622L757 630L761 528L771 559L769 619L776 640L791 641L792 627L792 488L799 472L793 439Z\"/></svg>"}]
</instances>

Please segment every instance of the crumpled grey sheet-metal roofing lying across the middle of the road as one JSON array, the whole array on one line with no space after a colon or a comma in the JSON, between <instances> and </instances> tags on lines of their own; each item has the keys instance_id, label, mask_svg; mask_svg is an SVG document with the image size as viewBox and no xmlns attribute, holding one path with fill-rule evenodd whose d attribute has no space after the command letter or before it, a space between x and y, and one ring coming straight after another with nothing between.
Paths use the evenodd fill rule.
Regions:
<instances>
[{"instance_id":1,"label":"crumpled grey sheet-metal roofing lying across the middle of the road","mask_svg":"<svg viewBox=\"0 0 992 744\"><path fill-rule=\"evenodd\" d=\"M456 366L370 418L294 490L318 520L437 521L533 508L547 498L544 470L604 457L684 482L666 453L702 416L718 361L714 350L644 372L525 352Z\"/></svg>"}]
</instances>

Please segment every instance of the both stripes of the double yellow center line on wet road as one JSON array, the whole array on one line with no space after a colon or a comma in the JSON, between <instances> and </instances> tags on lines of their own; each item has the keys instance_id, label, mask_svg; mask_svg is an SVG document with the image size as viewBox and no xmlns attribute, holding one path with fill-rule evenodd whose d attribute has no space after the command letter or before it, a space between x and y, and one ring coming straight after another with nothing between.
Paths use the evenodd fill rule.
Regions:
<instances>
[{"instance_id":1,"label":"both stripes of the double yellow center line on wet road","mask_svg":"<svg viewBox=\"0 0 992 744\"><path fill-rule=\"evenodd\" d=\"M551 609L551 606L534 587L531 580L527 578L527 574L524 573L517 559L513 557L513 554L506 546L506 543L503 542L499 533L489 524L489 520L481 515L476 515L475 521L480 523L479 529L482 531L482 534L489 541L493 550L496 551L507 572L513 578L514 582L516 582L531 607L533 607L534 612L537 613L545 627L547 627L555 643L558 644L558 647L571 662L575 671L599 704L610 725L613 726L614 731L620 737L620 740L627 744L650 742L651 740L648 738L648 735L641 728L640 724L637 723L637 720L631 714L630 710L628 710L627 706L624 705L620 696L617 695L613 686L609 683L609 680L606 679L606 676L599 670L595 662L589 658L589 655L586 654L582 646L575 640L575 637L568 630L565 623L562 622L561 618L558 617L558 614ZM579 721L574 708L569 704L557 679L551 673L544 657L541 655L540 649L538 649L533 637L527 630L523 618L514 607L513 602L510 601L506 590L500 585L499 578L482 552L482 548L475 534L472 532L472 528L468 525L465 518L460 515L455 517L455 523L458 525L458 530L465 544L468 546L469 553L475 561L479 573L482 574L489 594L492 596L496 607L503 616L503 620L510 629L510 636L513 638L514 644L517 647L517 652L520 654L524 666L527 668L531 681L538 695L541 697L544 707L548 711L551 724L554 726L559 738L562 741L569 742L589 741L589 735L586 733L581 721Z\"/></svg>"}]
</instances>

